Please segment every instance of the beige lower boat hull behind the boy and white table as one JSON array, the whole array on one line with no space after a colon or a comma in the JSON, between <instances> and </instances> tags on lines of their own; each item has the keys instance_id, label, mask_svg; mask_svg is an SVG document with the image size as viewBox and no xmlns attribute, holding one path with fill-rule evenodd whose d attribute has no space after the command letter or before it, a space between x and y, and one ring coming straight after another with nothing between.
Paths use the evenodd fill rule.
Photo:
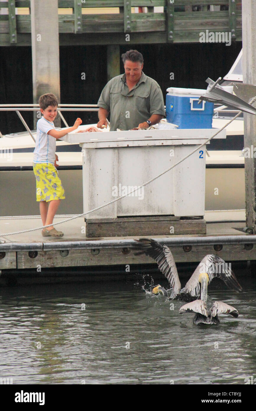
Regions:
<instances>
[{"instance_id":1,"label":"beige lower boat hull behind the boy and white table","mask_svg":"<svg viewBox=\"0 0 256 411\"><path fill-rule=\"evenodd\" d=\"M83 213L82 170L60 170L66 199L58 214ZM0 217L39 215L33 171L0 172ZM206 168L205 210L245 209L244 168Z\"/></svg>"}]
</instances>

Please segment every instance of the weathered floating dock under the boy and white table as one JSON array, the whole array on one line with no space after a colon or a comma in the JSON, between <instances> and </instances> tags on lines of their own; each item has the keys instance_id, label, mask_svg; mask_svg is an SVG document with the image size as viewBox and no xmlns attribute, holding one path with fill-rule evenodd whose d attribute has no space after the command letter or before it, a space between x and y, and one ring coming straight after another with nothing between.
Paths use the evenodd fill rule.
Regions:
<instances>
[{"instance_id":1,"label":"weathered floating dock under the boy and white table","mask_svg":"<svg viewBox=\"0 0 256 411\"><path fill-rule=\"evenodd\" d=\"M55 219L55 222L60 219ZM7 233L40 226L37 219L9 219L0 221L0 232ZM59 224L65 236L60 239L42 237L41 230L30 233L16 234L3 238L6 242L0 244L0 279L16 279L25 274L35 280L42 277L47 270L54 280L55 270L74 268L80 270L83 279L93 268L95 271L107 266L108 271L121 266L122 271L129 275L130 265L154 264L148 256L135 256L134 237L104 237L86 238L84 219L79 217L67 223ZM206 254L215 254L230 261L256 260L256 236L248 235L240 230L242 222L207 224L206 235L180 236L150 236L164 242L171 248L177 263L199 262ZM240 230L239 230L240 229ZM255 245L255 246L254 246ZM82 271L81 268L83 267ZM146 268L147 266L145 266ZM51 270L49 270L51 269ZM91 279L91 275L90 275Z\"/></svg>"}]
</instances>

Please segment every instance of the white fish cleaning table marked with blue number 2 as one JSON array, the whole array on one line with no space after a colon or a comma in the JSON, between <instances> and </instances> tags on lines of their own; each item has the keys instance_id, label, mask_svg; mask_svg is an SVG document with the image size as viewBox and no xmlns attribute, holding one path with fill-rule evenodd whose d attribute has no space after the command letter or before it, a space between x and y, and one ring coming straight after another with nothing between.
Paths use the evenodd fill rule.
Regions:
<instances>
[{"instance_id":1,"label":"white fish cleaning table marked with blue number 2","mask_svg":"<svg viewBox=\"0 0 256 411\"><path fill-rule=\"evenodd\" d=\"M85 126L80 126L83 129ZM88 126L86 126L88 127ZM67 134L83 158L86 236L205 234L206 146L145 187L217 129L138 130ZM226 138L226 130L214 138ZM136 192L131 192L138 188Z\"/></svg>"}]
</instances>

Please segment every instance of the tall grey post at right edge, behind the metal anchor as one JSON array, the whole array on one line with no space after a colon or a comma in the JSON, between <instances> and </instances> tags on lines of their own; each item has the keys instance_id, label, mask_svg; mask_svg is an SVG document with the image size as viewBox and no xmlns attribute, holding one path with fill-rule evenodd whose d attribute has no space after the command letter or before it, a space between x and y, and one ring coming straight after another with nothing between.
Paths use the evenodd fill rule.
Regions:
<instances>
[{"instance_id":1,"label":"tall grey post at right edge, behind the metal anchor","mask_svg":"<svg viewBox=\"0 0 256 411\"><path fill-rule=\"evenodd\" d=\"M256 85L256 2L242 2L243 83ZM255 104L254 104L255 106ZM244 147L256 147L256 116L244 113ZM251 157L251 156L250 156ZM246 225L256 233L256 158L245 158Z\"/></svg>"}]
</instances>

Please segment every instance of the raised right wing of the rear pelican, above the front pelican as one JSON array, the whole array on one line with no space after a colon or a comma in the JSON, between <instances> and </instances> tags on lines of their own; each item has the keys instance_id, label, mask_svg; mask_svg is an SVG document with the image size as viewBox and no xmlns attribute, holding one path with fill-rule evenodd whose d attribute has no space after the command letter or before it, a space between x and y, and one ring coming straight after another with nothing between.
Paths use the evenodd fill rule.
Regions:
<instances>
[{"instance_id":1,"label":"raised right wing of the rear pelican, above the front pelican","mask_svg":"<svg viewBox=\"0 0 256 411\"><path fill-rule=\"evenodd\" d=\"M200 283L198 278L203 272L208 274L209 284L214 277L218 277L224 281L228 288L235 291L242 290L242 287L240 286L231 268L229 268L228 264L226 264L222 258L213 254L208 254L196 267L196 270L193 272L189 281L185 285L184 292L190 293L191 296L199 295Z\"/></svg>"}]
</instances>

